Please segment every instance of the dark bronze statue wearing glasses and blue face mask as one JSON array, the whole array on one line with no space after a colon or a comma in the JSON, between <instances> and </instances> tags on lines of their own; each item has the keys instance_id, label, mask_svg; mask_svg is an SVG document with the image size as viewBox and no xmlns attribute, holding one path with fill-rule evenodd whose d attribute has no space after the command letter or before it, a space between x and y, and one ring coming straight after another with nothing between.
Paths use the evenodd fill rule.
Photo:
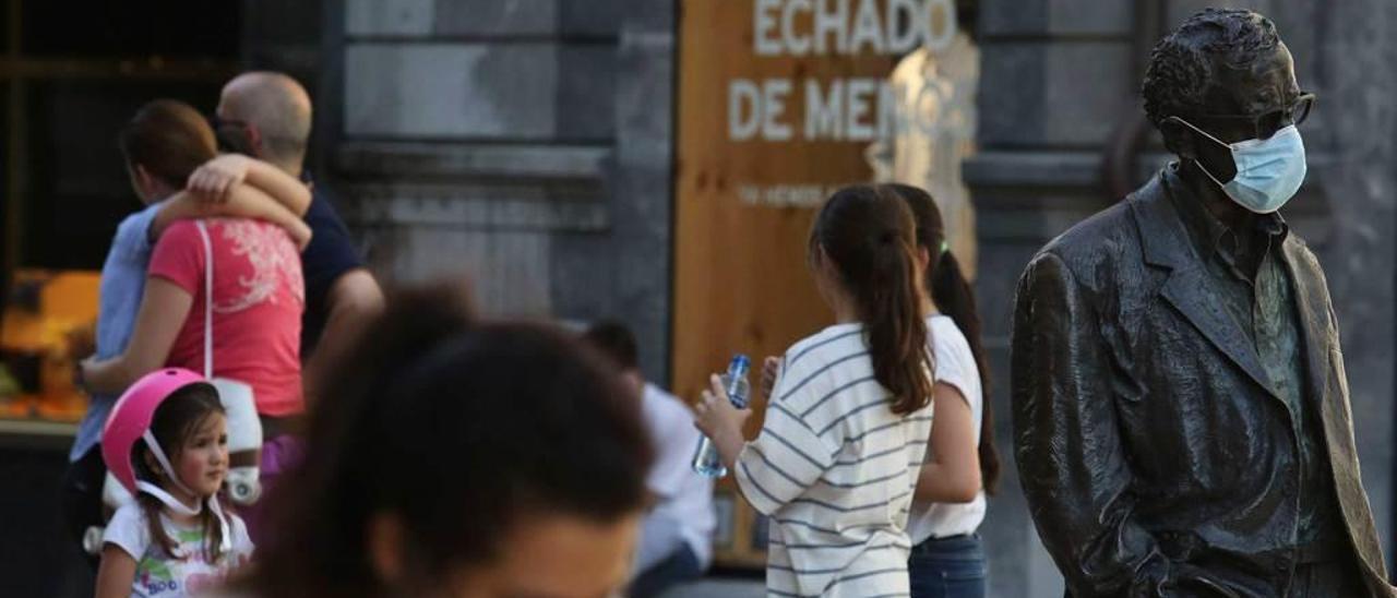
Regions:
<instances>
[{"instance_id":1,"label":"dark bronze statue wearing glasses and blue face mask","mask_svg":"<svg viewBox=\"0 0 1397 598\"><path fill-rule=\"evenodd\" d=\"M1390 597L1338 324L1277 210L1305 177L1275 27L1206 10L1144 106L1178 161L1018 285L1014 449L1069 594Z\"/></svg>"}]
</instances>

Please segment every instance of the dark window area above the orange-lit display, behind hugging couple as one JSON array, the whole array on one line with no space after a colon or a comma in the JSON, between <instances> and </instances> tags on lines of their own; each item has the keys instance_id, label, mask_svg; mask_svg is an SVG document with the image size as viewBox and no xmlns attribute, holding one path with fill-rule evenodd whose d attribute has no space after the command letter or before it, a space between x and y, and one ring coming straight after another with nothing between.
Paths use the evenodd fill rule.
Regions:
<instances>
[{"instance_id":1,"label":"dark window area above the orange-lit display, behind hugging couple","mask_svg":"<svg viewBox=\"0 0 1397 598\"><path fill-rule=\"evenodd\" d=\"M243 3L0 6L0 35L20 31L0 61L0 151L14 156L0 161L0 264L101 268L116 225L140 208L116 145L122 124L156 98L211 113L236 73Z\"/></svg>"}]
</instances>

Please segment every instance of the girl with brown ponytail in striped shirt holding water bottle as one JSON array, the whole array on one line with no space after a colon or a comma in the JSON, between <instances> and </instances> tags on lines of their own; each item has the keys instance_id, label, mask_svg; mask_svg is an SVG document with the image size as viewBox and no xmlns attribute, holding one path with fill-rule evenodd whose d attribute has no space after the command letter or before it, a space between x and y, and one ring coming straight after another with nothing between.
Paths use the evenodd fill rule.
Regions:
<instances>
[{"instance_id":1,"label":"girl with brown ponytail in striped shirt holding water bottle","mask_svg":"<svg viewBox=\"0 0 1397 598\"><path fill-rule=\"evenodd\" d=\"M771 518L768 595L909 592L905 527L932 426L914 233L895 194L835 193L809 256L838 324L780 360L756 440L743 440L750 412L728 402L717 376L697 407L742 495Z\"/></svg>"}]
</instances>

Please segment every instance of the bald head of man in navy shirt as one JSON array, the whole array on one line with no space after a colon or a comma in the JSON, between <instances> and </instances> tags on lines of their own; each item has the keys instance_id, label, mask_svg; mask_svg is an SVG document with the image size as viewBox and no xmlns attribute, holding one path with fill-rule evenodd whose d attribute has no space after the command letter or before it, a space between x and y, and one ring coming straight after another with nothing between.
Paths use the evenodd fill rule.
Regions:
<instances>
[{"instance_id":1,"label":"bald head of man in navy shirt","mask_svg":"<svg viewBox=\"0 0 1397 598\"><path fill-rule=\"evenodd\" d=\"M257 158L300 175L310 140L310 95L296 80L271 71L243 73L224 85L218 117L246 123Z\"/></svg>"}]
</instances>

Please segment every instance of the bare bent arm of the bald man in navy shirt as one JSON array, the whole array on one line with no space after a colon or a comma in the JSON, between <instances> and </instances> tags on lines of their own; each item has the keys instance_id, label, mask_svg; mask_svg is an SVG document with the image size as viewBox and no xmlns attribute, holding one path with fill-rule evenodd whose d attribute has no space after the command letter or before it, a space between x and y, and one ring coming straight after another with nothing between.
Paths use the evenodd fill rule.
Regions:
<instances>
[{"instance_id":1,"label":"bare bent arm of the bald man in navy shirt","mask_svg":"<svg viewBox=\"0 0 1397 598\"><path fill-rule=\"evenodd\" d=\"M327 296L326 327L320 333L316 351L306 359L305 394L306 404L316 400L316 381L320 370L334 363L359 335L359 333L383 310L383 291L365 268L346 271L335 279Z\"/></svg>"}]
</instances>

